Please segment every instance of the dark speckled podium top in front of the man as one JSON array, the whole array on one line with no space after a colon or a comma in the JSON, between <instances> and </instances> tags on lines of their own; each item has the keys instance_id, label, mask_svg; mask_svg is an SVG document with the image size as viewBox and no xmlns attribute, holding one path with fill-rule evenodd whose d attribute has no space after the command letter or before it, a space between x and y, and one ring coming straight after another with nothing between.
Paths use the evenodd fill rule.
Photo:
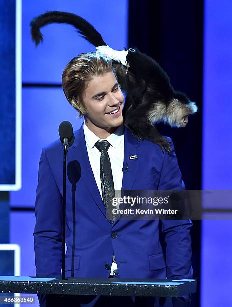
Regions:
<instances>
[{"instance_id":1,"label":"dark speckled podium top in front of the man","mask_svg":"<svg viewBox=\"0 0 232 307\"><path fill-rule=\"evenodd\" d=\"M0 276L2 293L180 297L196 292L195 279L37 278Z\"/></svg>"}]
</instances>

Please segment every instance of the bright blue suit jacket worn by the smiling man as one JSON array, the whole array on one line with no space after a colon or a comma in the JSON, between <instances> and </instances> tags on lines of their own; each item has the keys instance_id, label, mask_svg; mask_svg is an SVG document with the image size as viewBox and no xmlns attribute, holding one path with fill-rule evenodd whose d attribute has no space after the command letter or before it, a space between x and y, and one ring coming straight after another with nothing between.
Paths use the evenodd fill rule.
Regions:
<instances>
[{"instance_id":1,"label":"bright blue suit jacket worn by the smiling man","mask_svg":"<svg viewBox=\"0 0 232 307\"><path fill-rule=\"evenodd\" d=\"M130 155L137 159L130 160ZM125 128L122 190L184 189L176 155ZM36 275L61 276L63 146L43 149L34 230ZM119 220L113 225L88 159L83 126L67 157L66 276L108 277L115 253L121 278L192 278L190 220ZM112 232L117 233L112 238ZM161 244L164 237L166 248Z\"/></svg>"}]
</instances>

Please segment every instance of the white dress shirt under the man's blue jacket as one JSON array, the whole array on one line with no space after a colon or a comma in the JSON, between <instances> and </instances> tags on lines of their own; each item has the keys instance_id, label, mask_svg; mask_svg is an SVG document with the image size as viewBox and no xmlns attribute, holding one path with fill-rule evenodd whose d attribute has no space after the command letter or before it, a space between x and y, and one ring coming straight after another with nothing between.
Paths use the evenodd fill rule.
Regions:
<instances>
[{"instance_id":1,"label":"white dress shirt under the man's blue jacket","mask_svg":"<svg viewBox=\"0 0 232 307\"><path fill-rule=\"evenodd\" d=\"M114 133L109 135L107 138L101 139L96 134L94 134L86 126L85 122L83 125L85 141L87 152L89 156L89 162L94 174L95 181L98 186L98 190L102 197L102 188L101 188L101 177L100 177L100 156L101 152L94 146L99 140L107 140L110 144L108 149L108 155L110 157L114 189L121 190L122 188L122 167L124 159L124 126L123 124L119 126ZM120 196L120 195L116 195ZM111 274L117 269L117 264L112 262L111 265Z\"/></svg>"}]
</instances>

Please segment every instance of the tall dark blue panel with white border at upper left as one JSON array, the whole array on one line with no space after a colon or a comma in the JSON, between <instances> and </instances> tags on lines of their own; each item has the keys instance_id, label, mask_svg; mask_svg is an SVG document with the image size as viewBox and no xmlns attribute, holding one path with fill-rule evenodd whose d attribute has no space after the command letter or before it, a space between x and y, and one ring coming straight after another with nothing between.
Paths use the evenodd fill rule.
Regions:
<instances>
[{"instance_id":1,"label":"tall dark blue panel with white border at upper left","mask_svg":"<svg viewBox=\"0 0 232 307\"><path fill-rule=\"evenodd\" d=\"M20 1L0 0L0 191L17 190L21 181L20 17Z\"/></svg>"}]
</instances>

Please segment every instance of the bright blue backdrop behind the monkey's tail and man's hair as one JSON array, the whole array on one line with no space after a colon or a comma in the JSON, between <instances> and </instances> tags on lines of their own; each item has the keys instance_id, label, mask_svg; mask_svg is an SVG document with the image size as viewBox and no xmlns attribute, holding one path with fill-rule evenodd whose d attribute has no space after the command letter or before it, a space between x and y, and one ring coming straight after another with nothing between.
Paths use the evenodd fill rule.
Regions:
<instances>
[{"instance_id":1,"label":"bright blue backdrop behind the monkey's tail and man's hair","mask_svg":"<svg viewBox=\"0 0 232 307\"><path fill-rule=\"evenodd\" d=\"M0 0L1 1L1 0ZM41 0L22 2L22 81L23 84L60 84L67 63L81 52L94 50L68 25L42 28L43 44L35 47L29 23L49 10L75 13L90 21L104 40L115 49L127 47L127 0L67 2ZM22 188L10 193L14 207L34 207L41 150L58 139L58 126L69 120L78 129L82 119L56 87L23 86L22 91ZM21 275L35 275L33 248L34 212L14 211L10 216L10 242L21 247ZM35 305L36 307L36 305Z\"/></svg>"}]
</instances>

